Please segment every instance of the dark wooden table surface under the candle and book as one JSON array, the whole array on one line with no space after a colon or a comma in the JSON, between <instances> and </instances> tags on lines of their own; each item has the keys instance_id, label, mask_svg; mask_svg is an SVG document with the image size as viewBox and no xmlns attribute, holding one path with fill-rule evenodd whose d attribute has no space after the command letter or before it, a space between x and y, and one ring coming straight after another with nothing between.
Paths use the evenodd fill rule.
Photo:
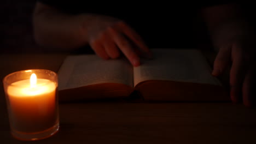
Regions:
<instances>
[{"instance_id":1,"label":"dark wooden table surface under the candle and book","mask_svg":"<svg viewBox=\"0 0 256 144\"><path fill-rule=\"evenodd\" d=\"M0 55L1 79L23 69L57 72L66 54ZM40 141L11 137L2 82L0 143L256 143L256 111L231 103L60 104L60 131Z\"/></svg>"}]
</instances>

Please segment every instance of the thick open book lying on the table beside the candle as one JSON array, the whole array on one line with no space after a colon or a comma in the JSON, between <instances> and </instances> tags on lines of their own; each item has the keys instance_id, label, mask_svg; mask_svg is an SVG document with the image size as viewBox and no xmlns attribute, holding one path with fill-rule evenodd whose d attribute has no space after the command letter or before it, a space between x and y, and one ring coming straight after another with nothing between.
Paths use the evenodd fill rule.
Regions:
<instances>
[{"instance_id":1,"label":"thick open book lying on the table beside the candle","mask_svg":"<svg viewBox=\"0 0 256 144\"><path fill-rule=\"evenodd\" d=\"M153 59L139 67L125 58L103 60L96 55L71 55L59 70L59 99L125 98L136 92L143 100L229 100L199 50L151 49Z\"/></svg>"}]
</instances>

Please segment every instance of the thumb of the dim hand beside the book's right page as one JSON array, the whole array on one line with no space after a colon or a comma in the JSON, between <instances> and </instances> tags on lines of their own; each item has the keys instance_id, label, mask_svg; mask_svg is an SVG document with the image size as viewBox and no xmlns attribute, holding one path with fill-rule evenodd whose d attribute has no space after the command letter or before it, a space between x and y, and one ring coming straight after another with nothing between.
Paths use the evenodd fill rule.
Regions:
<instances>
[{"instance_id":1,"label":"thumb of the dim hand beside the book's right page","mask_svg":"<svg viewBox=\"0 0 256 144\"><path fill-rule=\"evenodd\" d=\"M231 45L219 49L216 59L213 64L213 76L219 76L223 73L231 59Z\"/></svg>"}]
</instances>

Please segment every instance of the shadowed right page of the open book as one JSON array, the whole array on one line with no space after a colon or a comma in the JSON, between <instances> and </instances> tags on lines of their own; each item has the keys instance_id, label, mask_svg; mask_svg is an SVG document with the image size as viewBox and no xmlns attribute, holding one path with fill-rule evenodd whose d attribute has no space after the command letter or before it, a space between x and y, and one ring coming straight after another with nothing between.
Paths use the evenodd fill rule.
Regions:
<instances>
[{"instance_id":1,"label":"shadowed right page of the open book","mask_svg":"<svg viewBox=\"0 0 256 144\"><path fill-rule=\"evenodd\" d=\"M220 85L202 53L194 49L152 49L153 59L133 68L134 85L146 80L171 80Z\"/></svg>"}]
</instances>

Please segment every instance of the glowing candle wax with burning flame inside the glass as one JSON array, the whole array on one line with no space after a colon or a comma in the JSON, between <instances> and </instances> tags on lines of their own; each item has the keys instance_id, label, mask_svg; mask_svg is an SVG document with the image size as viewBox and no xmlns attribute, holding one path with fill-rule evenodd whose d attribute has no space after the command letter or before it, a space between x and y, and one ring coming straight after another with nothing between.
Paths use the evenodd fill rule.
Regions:
<instances>
[{"instance_id":1,"label":"glowing candle wax with burning flame inside the glass","mask_svg":"<svg viewBox=\"0 0 256 144\"><path fill-rule=\"evenodd\" d=\"M37 75L33 73L30 79L11 83L6 89L6 94L9 99L10 128L14 137L22 140L19 135L38 136L56 127L56 124L59 129L56 82L37 79ZM42 137L38 139L49 135L40 136ZM36 140L37 137L33 139Z\"/></svg>"}]
</instances>

